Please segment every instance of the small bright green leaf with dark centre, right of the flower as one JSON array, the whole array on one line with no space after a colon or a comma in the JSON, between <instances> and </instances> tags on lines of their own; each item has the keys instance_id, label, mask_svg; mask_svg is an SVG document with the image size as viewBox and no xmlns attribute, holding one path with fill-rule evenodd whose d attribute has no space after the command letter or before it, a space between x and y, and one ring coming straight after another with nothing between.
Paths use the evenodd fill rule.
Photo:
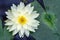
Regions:
<instances>
[{"instance_id":1,"label":"small bright green leaf with dark centre, right of the flower","mask_svg":"<svg viewBox=\"0 0 60 40\"><path fill-rule=\"evenodd\" d=\"M44 12L41 15L41 19L44 24L46 24L50 29L56 29L56 16L52 12Z\"/></svg>"}]
</instances>

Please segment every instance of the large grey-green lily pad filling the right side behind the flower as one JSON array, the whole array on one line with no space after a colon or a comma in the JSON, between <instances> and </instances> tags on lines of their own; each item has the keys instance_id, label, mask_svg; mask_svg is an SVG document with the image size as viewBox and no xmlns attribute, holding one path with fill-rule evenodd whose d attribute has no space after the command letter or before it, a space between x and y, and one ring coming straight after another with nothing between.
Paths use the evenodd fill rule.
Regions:
<instances>
[{"instance_id":1,"label":"large grey-green lily pad filling the right side behind the flower","mask_svg":"<svg viewBox=\"0 0 60 40\"><path fill-rule=\"evenodd\" d=\"M38 20L40 21L40 25L39 25L38 29L36 30L36 32L32 33L31 35L36 40L58 40L58 36L54 35L53 33L55 32L56 28L60 29L60 25L59 25L60 24L60 0L43 0L43 1L46 6L47 13L49 15L51 14L54 16L52 21L55 19L55 22L56 22L56 18L59 20L56 23L54 23L52 21L51 21L51 23L48 22L49 25L43 24L43 23L45 23L45 21L42 23L43 20L41 19L41 16L45 12L42 9L42 7L40 6L40 4L35 0L34 2L32 2L32 5L34 6L34 10L36 10L38 13L40 13L40 16L38 17ZM54 25L56 25L56 26L54 26ZM51 29L54 31L51 31ZM60 30L58 30L58 32L60 32Z\"/></svg>"}]
</instances>

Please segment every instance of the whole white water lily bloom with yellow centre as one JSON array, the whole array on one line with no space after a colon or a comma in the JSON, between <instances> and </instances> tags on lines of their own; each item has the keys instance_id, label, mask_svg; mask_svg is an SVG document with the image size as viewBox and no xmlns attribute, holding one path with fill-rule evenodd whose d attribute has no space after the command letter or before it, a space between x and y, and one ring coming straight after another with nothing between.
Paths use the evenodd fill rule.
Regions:
<instances>
[{"instance_id":1,"label":"whole white water lily bloom with yellow centre","mask_svg":"<svg viewBox=\"0 0 60 40\"><path fill-rule=\"evenodd\" d=\"M35 32L39 25L39 21L35 18L39 14L33 9L34 7L31 7L31 4L27 6L22 2L18 6L13 4L11 10L6 12L8 19L5 21L5 25L8 26L9 32L13 31L13 35L18 33L20 37L24 37L24 35L28 37L30 31Z\"/></svg>"}]
</instances>

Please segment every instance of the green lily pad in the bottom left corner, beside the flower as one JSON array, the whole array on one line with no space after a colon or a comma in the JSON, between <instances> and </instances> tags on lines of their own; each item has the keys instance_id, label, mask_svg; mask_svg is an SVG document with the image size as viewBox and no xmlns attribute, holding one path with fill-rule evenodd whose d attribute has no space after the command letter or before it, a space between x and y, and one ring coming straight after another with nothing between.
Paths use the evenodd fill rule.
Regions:
<instances>
[{"instance_id":1,"label":"green lily pad in the bottom left corner, beside the flower","mask_svg":"<svg viewBox=\"0 0 60 40\"><path fill-rule=\"evenodd\" d=\"M2 21L0 20L0 40L12 40L12 35L6 29L6 27L2 28Z\"/></svg>"}]
</instances>

